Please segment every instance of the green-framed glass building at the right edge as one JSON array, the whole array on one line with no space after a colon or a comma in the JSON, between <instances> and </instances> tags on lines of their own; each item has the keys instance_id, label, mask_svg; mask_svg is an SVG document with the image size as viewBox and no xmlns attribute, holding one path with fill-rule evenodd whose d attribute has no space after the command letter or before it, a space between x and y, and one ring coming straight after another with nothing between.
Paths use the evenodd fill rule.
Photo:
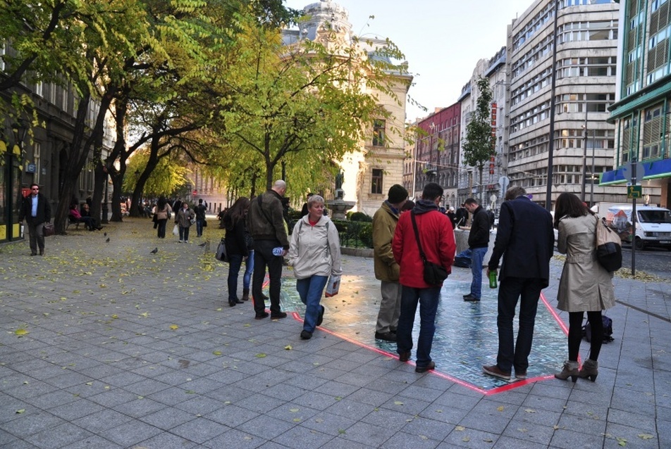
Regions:
<instances>
[{"instance_id":1,"label":"green-framed glass building at the right edge","mask_svg":"<svg viewBox=\"0 0 671 449\"><path fill-rule=\"evenodd\" d=\"M632 163L641 202L671 205L670 100L671 2L620 2L617 102L610 107L615 123L614 170L602 184L631 182Z\"/></svg>"}]
</instances>

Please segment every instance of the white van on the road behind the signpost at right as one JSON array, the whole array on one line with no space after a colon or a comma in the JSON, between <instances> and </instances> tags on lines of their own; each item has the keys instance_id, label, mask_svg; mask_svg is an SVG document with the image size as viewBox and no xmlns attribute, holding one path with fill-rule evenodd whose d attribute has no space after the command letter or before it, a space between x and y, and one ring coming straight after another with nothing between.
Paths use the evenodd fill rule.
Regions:
<instances>
[{"instance_id":1,"label":"white van on the road behind the signpost at right","mask_svg":"<svg viewBox=\"0 0 671 449\"><path fill-rule=\"evenodd\" d=\"M627 229L631 234L632 205L609 205L605 219L620 232L620 235L623 232L626 234ZM636 204L635 245L636 249L643 249L646 246L661 246L671 251L671 211L651 205Z\"/></svg>"}]
</instances>

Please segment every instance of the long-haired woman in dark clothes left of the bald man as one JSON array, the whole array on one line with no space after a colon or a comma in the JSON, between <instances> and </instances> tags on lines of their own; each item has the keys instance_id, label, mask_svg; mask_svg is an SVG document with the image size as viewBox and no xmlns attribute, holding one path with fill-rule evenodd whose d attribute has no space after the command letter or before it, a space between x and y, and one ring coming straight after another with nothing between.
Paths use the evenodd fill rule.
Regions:
<instances>
[{"instance_id":1,"label":"long-haired woman in dark clothes left of the bald man","mask_svg":"<svg viewBox=\"0 0 671 449\"><path fill-rule=\"evenodd\" d=\"M247 232L247 213L250 199L241 196L223 215L226 227L226 254L228 255L228 305L242 304L250 298L250 280L254 270L254 242ZM245 262L242 276L242 301L238 299L238 273Z\"/></svg>"}]
</instances>

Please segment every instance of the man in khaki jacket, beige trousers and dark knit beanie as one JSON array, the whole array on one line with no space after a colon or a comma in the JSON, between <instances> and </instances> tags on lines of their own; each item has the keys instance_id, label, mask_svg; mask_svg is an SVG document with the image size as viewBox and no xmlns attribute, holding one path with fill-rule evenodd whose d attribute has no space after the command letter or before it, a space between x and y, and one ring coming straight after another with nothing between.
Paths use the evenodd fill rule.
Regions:
<instances>
[{"instance_id":1,"label":"man in khaki jacket, beige trousers and dark knit beanie","mask_svg":"<svg viewBox=\"0 0 671 449\"><path fill-rule=\"evenodd\" d=\"M380 281L380 310L375 324L375 338L396 341L396 328L401 310L401 284L398 283L399 265L394 258L391 242L400 216L407 202L407 190L394 184L387 199L373 215L373 262L375 278Z\"/></svg>"}]
</instances>

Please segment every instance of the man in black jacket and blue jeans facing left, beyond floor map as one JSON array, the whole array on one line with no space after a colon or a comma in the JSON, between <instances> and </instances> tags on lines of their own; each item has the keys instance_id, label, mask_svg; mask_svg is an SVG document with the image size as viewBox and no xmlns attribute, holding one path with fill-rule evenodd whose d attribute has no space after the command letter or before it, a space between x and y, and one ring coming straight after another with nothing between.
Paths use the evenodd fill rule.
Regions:
<instances>
[{"instance_id":1,"label":"man in black jacket and blue jeans facing left, beyond floor map","mask_svg":"<svg viewBox=\"0 0 671 449\"><path fill-rule=\"evenodd\" d=\"M464 301L480 301L482 296L482 263L489 249L489 215L475 198L464 201L464 207L473 214L468 233L468 248L471 250L471 291Z\"/></svg>"}]
</instances>

